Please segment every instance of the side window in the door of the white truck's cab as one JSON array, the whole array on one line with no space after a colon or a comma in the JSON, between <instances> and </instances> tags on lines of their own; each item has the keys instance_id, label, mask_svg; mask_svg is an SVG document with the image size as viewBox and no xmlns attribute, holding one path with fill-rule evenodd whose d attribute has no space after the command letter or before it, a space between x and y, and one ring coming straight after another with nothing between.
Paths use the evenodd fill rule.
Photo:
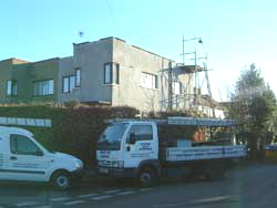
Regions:
<instances>
[{"instance_id":1,"label":"side window in the door of the white truck's cab","mask_svg":"<svg viewBox=\"0 0 277 208\"><path fill-rule=\"evenodd\" d=\"M129 132L135 135L135 141L152 141L153 139L153 129L151 125L133 125Z\"/></svg>"}]
</instances>

